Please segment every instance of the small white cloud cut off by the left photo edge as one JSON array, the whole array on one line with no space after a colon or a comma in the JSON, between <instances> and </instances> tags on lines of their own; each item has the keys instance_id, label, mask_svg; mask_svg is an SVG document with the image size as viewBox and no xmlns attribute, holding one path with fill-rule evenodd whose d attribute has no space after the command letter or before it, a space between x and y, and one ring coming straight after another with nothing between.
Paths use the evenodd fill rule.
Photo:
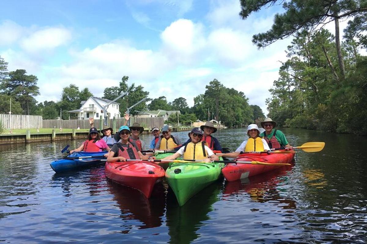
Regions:
<instances>
[{"instance_id":1,"label":"small white cloud cut off by the left photo edge","mask_svg":"<svg viewBox=\"0 0 367 244\"><path fill-rule=\"evenodd\" d=\"M11 45L18 41L23 32L23 27L11 20L4 20L0 24L0 46Z\"/></svg>"}]
</instances>

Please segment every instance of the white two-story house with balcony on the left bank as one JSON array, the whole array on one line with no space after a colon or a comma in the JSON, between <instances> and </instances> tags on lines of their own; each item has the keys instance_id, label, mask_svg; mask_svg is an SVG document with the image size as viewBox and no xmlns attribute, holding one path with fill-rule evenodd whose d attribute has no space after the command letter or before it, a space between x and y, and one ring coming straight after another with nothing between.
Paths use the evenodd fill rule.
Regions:
<instances>
[{"instance_id":1,"label":"white two-story house with balcony on the left bank","mask_svg":"<svg viewBox=\"0 0 367 244\"><path fill-rule=\"evenodd\" d=\"M94 119L99 119L99 116L104 117L103 114L103 106L107 105L111 102L108 99L99 98L99 97L89 97L87 101L82 101L80 109L68 111L70 113L77 114L77 119L83 120L88 119L90 117ZM120 117L119 104L117 102L113 102L106 108L107 116L110 118ZM70 116L69 116L70 118Z\"/></svg>"}]
</instances>

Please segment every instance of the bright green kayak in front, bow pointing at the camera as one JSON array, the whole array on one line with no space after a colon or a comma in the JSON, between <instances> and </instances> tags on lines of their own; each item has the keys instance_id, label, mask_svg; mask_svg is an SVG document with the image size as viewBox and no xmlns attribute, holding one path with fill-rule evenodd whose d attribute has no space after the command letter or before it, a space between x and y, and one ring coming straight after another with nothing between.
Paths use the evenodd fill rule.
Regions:
<instances>
[{"instance_id":1,"label":"bright green kayak in front, bow pointing at the camera","mask_svg":"<svg viewBox=\"0 0 367 244\"><path fill-rule=\"evenodd\" d=\"M173 163L166 170L166 179L182 206L199 191L218 180L223 163Z\"/></svg>"}]
</instances>

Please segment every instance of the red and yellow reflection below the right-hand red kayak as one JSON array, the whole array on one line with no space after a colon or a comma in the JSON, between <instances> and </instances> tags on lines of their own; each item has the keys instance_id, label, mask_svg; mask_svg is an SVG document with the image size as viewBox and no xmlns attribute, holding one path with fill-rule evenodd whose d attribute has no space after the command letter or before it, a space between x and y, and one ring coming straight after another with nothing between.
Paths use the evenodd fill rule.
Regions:
<instances>
[{"instance_id":1,"label":"red and yellow reflection below the right-hand red kayak","mask_svg":"<svg viewBox=\"0 0 367 244\"><path fill-rule=\"evenodd\" d=\"M226 181L223 199L229 201L243 201L250 198L253 202L271 202L281 209L295 209L295 200L285 198L281 193L281 185L287 183L287 174L292 166L266 172L254 177Z\"/></svg>"}]
</instances>

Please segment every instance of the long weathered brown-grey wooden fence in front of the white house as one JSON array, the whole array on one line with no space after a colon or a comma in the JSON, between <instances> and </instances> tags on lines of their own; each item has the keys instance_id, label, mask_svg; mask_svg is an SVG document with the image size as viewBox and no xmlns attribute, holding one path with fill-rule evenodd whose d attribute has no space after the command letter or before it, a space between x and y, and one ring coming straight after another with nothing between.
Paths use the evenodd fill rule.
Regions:
<instances>
[{"instance_id":1,"label":"long weathered brown-grey wooden fence in front of the white house","mask_svg":"<svg viewBox=\"0 0 367 244\"><path fill-rule=\"evenodd\" d=\"M121 125L123 125L125 119L118 118L116 119L116 128L119 128ZM137 117L131 117L130 118L130 125L133 123L139 123L141 126L145 128L153 128L158 127L162 128L164 124L163 117L156 117L156 118L137 118ZM113 119L109 119L108 125L112 127ZM89 120L43 120L43 127L42 128L68 128L68 129L77 129L78 127L80 129L89 129L90 124ZM94 127L98 128L100 127L99 119L94 120Z\"/></svg>"}]
</instances>

